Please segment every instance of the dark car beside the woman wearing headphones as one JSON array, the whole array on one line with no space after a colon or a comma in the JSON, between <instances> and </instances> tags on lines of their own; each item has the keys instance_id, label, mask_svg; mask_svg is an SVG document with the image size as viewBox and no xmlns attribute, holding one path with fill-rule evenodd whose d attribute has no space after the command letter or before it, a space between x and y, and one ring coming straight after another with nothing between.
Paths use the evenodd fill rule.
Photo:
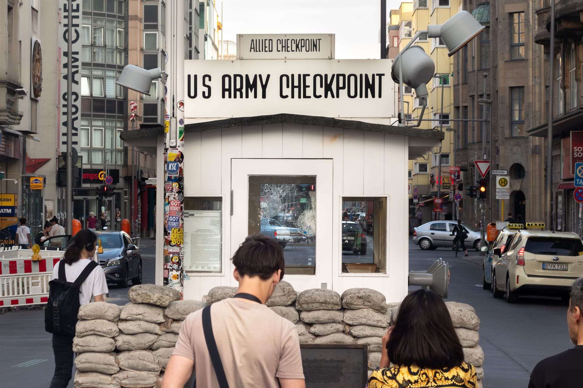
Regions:
<instances>
[{"instance_id":1,"label":"dark car beside the woman wearing headphones","mask_svg":"<svg viewBox=\"0 0 583 388\"><path fill-rule=\"evenodd\" d=\"M126 232L96 231L101 239L103 253L99 254L99 264L108 282L121 288L132 284L142 284L142 255L140 249Z\"/></svg>"}]
</instances>

